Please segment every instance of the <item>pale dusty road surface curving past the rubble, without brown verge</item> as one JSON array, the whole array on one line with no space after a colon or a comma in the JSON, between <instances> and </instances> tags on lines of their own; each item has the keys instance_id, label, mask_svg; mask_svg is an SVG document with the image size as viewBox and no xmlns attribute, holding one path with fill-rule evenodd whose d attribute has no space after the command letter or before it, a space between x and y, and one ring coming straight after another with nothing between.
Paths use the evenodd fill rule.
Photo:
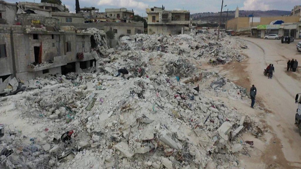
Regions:
<instances>
[{"instance_id":1,"label":"pale dusty road surface curving past the rubble, without brown verge","mask_svg":"<svg viewBox=\"0 0 301 169\"><path fill-rule=\"evenodd\" d=\"M250 57L247 64L244 64L245 71L250 83L255 84L257 88L257 96L262 99L265 107L272 111L264 120L276 134L275 140L281 142L279 150L282 152L270 151L269 155L275 157L273 158L275 160L287 163L280 164L282 166L280 168L300 168L301 136L294 125L297 108L294 98L296 93L301 93L301 74L299 70L286 71L287 61L292 58L301 64L301 53L295 48L298 41L288 45L281 44L279 40L242 39L248 46L244 52ZM263 70L269 63L275 67L273 79L263 75Z\"/></svg>"}]
</instances>

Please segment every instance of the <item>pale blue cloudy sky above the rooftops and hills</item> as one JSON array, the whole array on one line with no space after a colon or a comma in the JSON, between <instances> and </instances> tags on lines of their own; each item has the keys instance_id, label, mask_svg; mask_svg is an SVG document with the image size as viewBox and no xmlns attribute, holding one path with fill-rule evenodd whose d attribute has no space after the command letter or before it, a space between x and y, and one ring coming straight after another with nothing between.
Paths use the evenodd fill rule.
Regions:
<instances>
[{"instance_id":1,"label":"pale blue cloudy sky above the rooftops and hills","mask_svg":"<svg viewBox=\"0 0 301 169\"><path fill-rule=\"evenodd\" d=\"M19 2L6 0L7 2ZM21 0L23 1L23 0ZM40 2L40 0L26 0L29 2ZM75 0L61 0L69 8L70 12L74 11ZM191 14L199 12L218 12L221 9L222 0L79 0L80 7L96 7L100 12L105 8L127 8L134 10L135 14L147 16L146 8L165 6L166 10L189 10ZM224 0L223 11L229 9L235 10L284 10L291 11L295 5L301 5L300 0Z\"/></svg>"}]
</instances>

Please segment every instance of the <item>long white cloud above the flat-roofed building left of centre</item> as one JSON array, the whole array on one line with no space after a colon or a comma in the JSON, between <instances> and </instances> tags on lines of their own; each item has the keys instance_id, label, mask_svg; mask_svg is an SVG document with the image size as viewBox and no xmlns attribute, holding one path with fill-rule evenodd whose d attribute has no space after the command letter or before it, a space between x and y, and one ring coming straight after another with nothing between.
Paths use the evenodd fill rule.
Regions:
<instances>
[{"instance_id":1,"label":"long white cloud above the flat-roofed building left of centre","mask_svg":"<svg viewBox=\"0 0 301 169\"><path fill-rule=\"evenodd\" d=\"M138 2L135 0L100 0L98 5L108 5L116 7L125 7L125 8L137 8L137 9L146 9L148 5L143 2Z\"/></svg>"}]
</instances>

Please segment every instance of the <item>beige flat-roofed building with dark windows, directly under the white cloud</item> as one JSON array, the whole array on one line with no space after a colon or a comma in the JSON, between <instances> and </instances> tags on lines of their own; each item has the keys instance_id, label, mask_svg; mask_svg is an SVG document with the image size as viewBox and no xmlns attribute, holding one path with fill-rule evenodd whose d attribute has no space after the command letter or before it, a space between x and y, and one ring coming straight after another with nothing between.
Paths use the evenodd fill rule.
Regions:
<instances>
[{"instance_id":1,"label":"beige flat-roofed building with dark windows, directly under the white cloud","mask_svg":"<svg viewBox=\"0 0 301 169\"><path fill-rule=\"evenodd\" d=\"M134 11L127 10L126 8L106 8L105 15L109 20L130 20L134 17Z\"/></svg>"}]
</instances>

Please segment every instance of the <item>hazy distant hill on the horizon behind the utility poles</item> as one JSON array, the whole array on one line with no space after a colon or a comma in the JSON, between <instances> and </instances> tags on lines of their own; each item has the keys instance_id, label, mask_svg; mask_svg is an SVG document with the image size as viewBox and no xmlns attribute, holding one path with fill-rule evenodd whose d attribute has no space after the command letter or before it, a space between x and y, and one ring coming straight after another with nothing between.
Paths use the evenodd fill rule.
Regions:
<instances>
[{"instance_id":1,"label":"hazy distant hill on the horizon behind the utility poles","mask_svg":"<svg viewBox=\"0 0 301 169\"><path fill-rule=\"evenodd\" d=\"M273 16L284 16L290 15L290 11L279 11L279 10L270 10L270 11L239 11L239 16L244 17L253 14L254 17L273 17ZM218 23L219 21L219 12L203 12L191 14L193 20L202 20L207 22ZM222 20L226 20L227 11L222 12ZM228 19L235 17L235 11L228 12Z\"/></svg>"}]
</instances>

